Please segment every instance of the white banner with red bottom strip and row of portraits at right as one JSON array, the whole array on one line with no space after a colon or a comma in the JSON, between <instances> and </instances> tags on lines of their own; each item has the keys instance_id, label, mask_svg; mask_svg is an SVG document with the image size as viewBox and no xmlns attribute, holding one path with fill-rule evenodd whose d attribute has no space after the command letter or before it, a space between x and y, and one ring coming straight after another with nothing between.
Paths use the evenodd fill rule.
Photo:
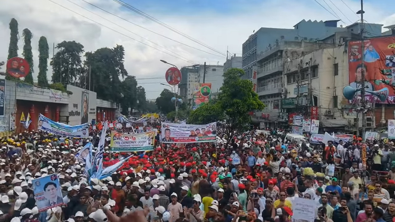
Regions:
<instances>
[{"instance_id":1,"label":"white banner with red bottom strip and row of portraits at right","mask_svg":"<svg viewBox=\"0 0 395 222\"><path fill-rule=\"evenodd\" d=\"M162 122L162 143L205 143L216 141L216 122L205 125Z\"/></svg>"}]
</instances>

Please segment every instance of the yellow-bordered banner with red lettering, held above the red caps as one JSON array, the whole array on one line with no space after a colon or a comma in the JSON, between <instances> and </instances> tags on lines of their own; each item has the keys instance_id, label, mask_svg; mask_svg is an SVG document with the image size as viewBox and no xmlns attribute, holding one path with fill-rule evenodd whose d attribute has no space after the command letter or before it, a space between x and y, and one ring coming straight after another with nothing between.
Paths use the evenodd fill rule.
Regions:
<instances>
[{"instance_id":1,"label":"yellow-bordered banner with red lettering, held above the red caps","mask_svg":"<svg viewBox=\"0 0 395 222\"><path fill-rule=\"evenodd\" d=\"M143 132L139 134L122 134L111 131L111 151L137 152L154 149L156 132Z\"/></svg>"}]
</instances>

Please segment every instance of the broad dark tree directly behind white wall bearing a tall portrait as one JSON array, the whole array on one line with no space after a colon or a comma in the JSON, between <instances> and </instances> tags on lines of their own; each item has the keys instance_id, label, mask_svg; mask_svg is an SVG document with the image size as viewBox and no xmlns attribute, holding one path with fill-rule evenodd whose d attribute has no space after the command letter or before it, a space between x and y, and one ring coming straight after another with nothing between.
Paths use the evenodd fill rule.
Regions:
<instances>
[{"instance_id":1,"label":"broad dark tree directly behind white wall bearing a tall portrait","mask_svg":"<svg viewBox=\"0 0 395 222\"><path fill-rule=\"evenodd\" d=\"M98 98L116 103L120 103L124 98L119 79L128 76L123 64L124 54L122 45L85 53L85 66L90 69L90 89L97 93Z\"/></svg>"}]
</instances>

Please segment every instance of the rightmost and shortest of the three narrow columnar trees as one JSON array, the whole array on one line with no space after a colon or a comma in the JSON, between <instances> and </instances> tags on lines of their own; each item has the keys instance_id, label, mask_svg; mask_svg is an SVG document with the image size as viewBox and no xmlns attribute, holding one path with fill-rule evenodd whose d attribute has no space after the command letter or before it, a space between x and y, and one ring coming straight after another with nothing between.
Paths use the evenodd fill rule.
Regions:
<instances>
[{"instance_id":1,"label":"rightmost and shortest of the three narrow columnar trees","mask_svg":"<svg viewBox=\"0 0 395 222\"><path fill-rule=\"evenodd\" d=\"M44 36L40 37L38 41L38 85L40 87L48 87L47 71L48 71L48 58L49 58L49 47L47 38Z\"/></svg>"}]
</instances>

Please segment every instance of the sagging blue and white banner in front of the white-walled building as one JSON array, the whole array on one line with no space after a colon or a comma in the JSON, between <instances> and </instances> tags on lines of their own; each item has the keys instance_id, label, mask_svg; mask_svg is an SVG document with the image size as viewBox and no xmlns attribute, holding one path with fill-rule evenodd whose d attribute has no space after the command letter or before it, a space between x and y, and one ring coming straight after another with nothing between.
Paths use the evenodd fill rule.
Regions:
<instances>
[{"instance_id":1,"label":"sagging blue and white banner in front of the white-walled building","mask_svg":"<svg viewBox=\"0 0 395 222\"><path fill-rule=\"evenodd\" d=\"M89 137L89 124L81 124L70 126L64 123L55 122L40 114L38 117L38 130L44 130L60 136L75 137L75 138L88 138Z\"/></svg>"}]
</instances>

